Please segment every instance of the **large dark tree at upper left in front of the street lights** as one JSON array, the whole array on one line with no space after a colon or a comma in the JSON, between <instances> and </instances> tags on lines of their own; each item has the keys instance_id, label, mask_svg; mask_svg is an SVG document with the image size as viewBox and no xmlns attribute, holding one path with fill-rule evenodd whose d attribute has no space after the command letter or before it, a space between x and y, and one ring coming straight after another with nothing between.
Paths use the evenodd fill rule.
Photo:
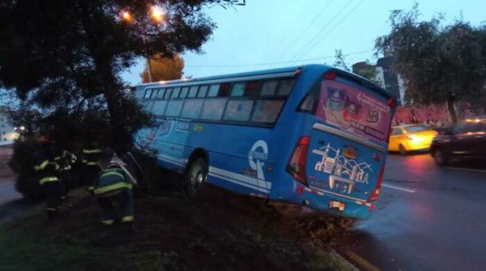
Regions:
<instances>
[{"instance_id":1,"label":"large dark tree at upper left in front of the street lights","mask_svg":"<svg viewBox=\"0 0 486 271\"><path fill-rule=\"evenodd\" d=\"M102 131L125 145L149 117L134 114L142 110L126 95L121 71L156 53L200 53L215 28L203 7L233 3L240 1L0 0L0 87L42 116L96 104L107 113Z\"/></svg>"}]
</instances>

